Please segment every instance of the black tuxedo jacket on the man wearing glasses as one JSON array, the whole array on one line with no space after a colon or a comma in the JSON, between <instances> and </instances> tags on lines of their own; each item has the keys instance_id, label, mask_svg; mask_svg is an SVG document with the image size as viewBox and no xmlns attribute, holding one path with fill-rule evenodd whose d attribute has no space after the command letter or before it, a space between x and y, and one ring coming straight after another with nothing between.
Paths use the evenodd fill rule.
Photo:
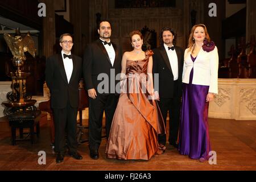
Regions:
<instances>
[{"instance_id":1,"label":"black tuxedo jacket on the man wearing glasses","mask_svg":"<svg viewBox=\"0 0 256 182\"><path fill-rule=\"evenodd\" d=\"M69 101L72 107L79 106L79 81L82 76L82 59L72 55L73 72L71 79L66 76L61 53L46 60L46 84L51 93L51 107L62 109Z\"/></svg>"}]
</instances>

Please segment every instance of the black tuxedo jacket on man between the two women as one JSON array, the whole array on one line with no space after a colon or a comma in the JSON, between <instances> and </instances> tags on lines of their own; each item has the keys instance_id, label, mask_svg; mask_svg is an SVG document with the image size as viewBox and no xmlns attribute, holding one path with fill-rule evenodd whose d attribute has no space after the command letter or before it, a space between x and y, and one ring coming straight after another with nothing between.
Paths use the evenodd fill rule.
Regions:
<instances>
[{"instance_id":1,"label":"black tuxedo jacket on man between the two women","mask_svg":"<svg viewBox=\"0 0 256 182\"><path fill-rule=\"evenodd\" d=\"M160 46L153 50L153 73L159 73L159 97L172 98L174 96L181 97L182 71L184 63L184 52L180 47L175 46L178 60L177 93L174 93L174 75L172 74L171 64L167 56L164 46Z\"/></svg>"}]
</instances>

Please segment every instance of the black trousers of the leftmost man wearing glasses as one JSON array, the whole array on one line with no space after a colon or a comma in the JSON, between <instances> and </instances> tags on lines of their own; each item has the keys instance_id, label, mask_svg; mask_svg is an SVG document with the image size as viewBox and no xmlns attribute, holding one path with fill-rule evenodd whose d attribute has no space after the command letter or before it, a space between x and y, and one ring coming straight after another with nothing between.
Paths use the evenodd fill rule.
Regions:
<instances>
[{"instance_id":1,"label":"black trousers of the leftmost man wearing glasses","mask_svg":"<svg viewBox=\"0 0 256 182\"><path fill-rule=\"evenodd\" d=\"M63 109L53 108L53 119L55 125L55 152L65 154L65 133L67 131L68 150L77 152L77 107L73 108L68 103Z\"/></svg>"}]
</instances>

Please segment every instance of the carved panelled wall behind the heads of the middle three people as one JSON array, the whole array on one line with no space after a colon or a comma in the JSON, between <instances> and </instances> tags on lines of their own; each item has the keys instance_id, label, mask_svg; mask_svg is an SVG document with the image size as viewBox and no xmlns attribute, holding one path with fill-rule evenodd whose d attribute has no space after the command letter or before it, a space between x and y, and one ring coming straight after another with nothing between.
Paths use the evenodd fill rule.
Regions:
<instances>
[{"instance_id":1,"label":"carved panelled wall behind the heads of the middle three people","mask_svg":"<svg viewBox=\"0 0 256 182\"><path fill-rule=\"evenodd\" d=\"M177 46L184 47L183 10L174 8L146 8L146 9L109 9L109 19L113 32L119 32L113 38L119 38L119 45L123 51L130 51L129 33L142 30L145 26L156 32L156 44L159 46L159 32L163 27L172 27L178 32ZM127 42L126 42L127 41Z\"/></svg>"}]
</instances>

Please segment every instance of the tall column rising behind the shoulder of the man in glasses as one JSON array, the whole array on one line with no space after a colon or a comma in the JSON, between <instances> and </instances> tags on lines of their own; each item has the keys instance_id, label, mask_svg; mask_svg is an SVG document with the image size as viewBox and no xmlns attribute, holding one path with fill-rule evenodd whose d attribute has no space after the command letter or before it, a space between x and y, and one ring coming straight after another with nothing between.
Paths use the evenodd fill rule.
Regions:
<instances>
[{"instance_id":1,"label":"tall column rising behind the shoulder of the man in glasses","mask_svg":"<svg viewBox=\"0 0 256 182\"><path fill-rule=\"evenodd\" d=\"M42 0L46 4L46 17L43 17L43 55L53 55L55 45L55 11L52 0Z\"/></svg>"}]
</instances>

